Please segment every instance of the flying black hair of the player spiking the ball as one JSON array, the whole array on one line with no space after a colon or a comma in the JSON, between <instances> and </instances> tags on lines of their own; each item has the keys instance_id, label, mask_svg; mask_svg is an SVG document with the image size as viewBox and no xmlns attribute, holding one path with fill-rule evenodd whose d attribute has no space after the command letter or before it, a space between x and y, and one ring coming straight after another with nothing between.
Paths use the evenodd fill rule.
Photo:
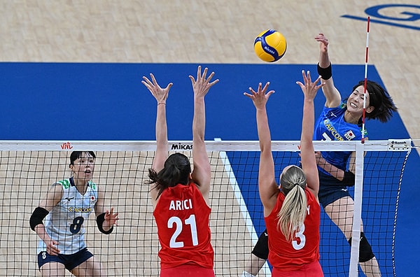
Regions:
<instances>
[{"instance_id":1,"label":"flying black hair of the player spiking the ball","mask_svg":"<svg viewBox=\"0 0 420 277\"><path fill-rule=\"evenodd\" d=\"M362 85L364 87L365 81L360 80L357 85L354 85L353 92L357 87ZM367 80L366 90L369 93L369 106L374 107L371 113L366 113L367 119L378 119L380 122L387 122L391 119L392 113L397 111L397 107L393 104L391 96L378 83Z\"/></svg>"}]
</instances>

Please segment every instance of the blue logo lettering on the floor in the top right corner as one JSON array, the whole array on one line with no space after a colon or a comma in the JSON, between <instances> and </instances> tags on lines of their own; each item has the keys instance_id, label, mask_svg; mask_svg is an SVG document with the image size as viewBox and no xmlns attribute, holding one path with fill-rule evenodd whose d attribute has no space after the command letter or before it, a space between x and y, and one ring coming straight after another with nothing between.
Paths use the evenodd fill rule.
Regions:
<instances>
[{"instance_id":1,"label":"blue logo lettering on the floor in the top right corner","mask_svg":"<svg viewBox=\"0 0 420 277\"><path fill-rule=\"evenodd\" d=\"M365 13L370 15L370 22L420 31L419 5L384 4L367 8ZM342 17L367 21L365 17L355 15L342 15Z\"/></svg>"}]
</instances>

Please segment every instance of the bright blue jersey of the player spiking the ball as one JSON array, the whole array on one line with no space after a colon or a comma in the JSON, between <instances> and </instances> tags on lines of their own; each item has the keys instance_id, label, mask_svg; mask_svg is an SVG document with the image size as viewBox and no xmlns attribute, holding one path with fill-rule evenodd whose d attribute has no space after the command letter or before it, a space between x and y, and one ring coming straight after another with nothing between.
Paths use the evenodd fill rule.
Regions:
<instances>
[{"instance_id":1,"label":"bright blue jersey of the player spiking the ball","mask_svg":"<svg viewBox=\"0 0 420 277\"><path fill-rule=\"evenodd\" d=\"M361 124L351 124L344 120L346 104L335 108L324 106L321 115L315 122L314 141L353 141L362 139ZM351 151L323 151L322 157L338 169L346 170L347 160ZM321 169L318 170L330 175Z\"/></svg>"}]
</instances>

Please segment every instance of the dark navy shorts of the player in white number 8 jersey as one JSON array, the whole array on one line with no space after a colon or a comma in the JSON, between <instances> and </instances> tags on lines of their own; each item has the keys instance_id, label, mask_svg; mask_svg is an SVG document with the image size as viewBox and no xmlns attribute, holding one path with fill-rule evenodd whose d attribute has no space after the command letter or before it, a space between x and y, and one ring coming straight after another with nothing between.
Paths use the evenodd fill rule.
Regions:
<instances>
[{"instance_id":1,"label":"dark navy shorts of the player in white number 8 jersey","mask_svg":"<svg viewBox=\"0 0 420 277\"><path fill-rule=\"evenodd\" d=\"M41 269L48 262L59 262L60 264L64 264L67 270L71 271L83 262L86 262L90 257L93 257L93 254L87 251L87 248L83 248L74 254L59 254L58 256L49 255L46 251L42 251L38 253L38 267Z\"/></svg>"}]
</instances>

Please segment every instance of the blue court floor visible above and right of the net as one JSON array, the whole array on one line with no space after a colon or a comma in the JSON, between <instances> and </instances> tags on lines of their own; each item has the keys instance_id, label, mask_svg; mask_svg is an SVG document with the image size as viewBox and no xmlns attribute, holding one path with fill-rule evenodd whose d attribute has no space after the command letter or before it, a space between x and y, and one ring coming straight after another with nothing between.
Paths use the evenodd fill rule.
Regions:
<instances>
[{"instance_id":1,"label":"blue court floor visible above and right of the net","mask_svg":"<svg viewBox=\"0 0 420 277\"><path fill-rule=\"evenodd\" d=\"M215 71L220 82L206 97L206 140L258 140L255 108L244 97L248 87L271 83L267 109L273 140L298 140L302 122L303 94L295 84L302 69L316 76L314 64L202 64ZM353 84L363 79L364 65L335 65L335 85L346 97ZM154 140L156 103L141 84L154 73L161 86L174 83L167 101L169 140L191 140L193 91L188 75L196 76L197 64L74 64L0 63L1 140ZM355 78L354 76L360 76ZM371 80L382 83L374 66ZM390 92L392 95L392 92ZM316 114L325 99L316 97ZM391 122L367 121L369 139L407 139L397 114ZM397 273L416 276L418 240L407 234L420 229L415 220L416 170L419 155L407 162L400 195L395 246ZM411 236L409 236L411 238Z\"/></svg>"}]
</instances>

